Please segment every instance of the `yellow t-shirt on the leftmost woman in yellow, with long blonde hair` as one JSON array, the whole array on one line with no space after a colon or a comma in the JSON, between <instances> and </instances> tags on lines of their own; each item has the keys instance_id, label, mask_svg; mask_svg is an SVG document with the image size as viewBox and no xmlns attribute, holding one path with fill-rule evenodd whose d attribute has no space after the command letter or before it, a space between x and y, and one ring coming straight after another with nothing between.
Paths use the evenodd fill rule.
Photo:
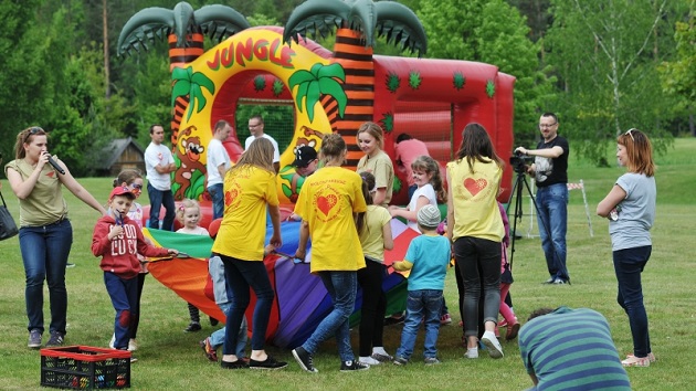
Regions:
<instances>
[{"instance_id":1,"label":"yellow t-shirt on the leftmost woman in yellow, with long blonde hair","mask_svg":"<svg viewBox=\"0 0 696 391\"><path fill-rule=\"evenodd\" d=\"M266 204L278 205L275 172L246 165L228 171L224 215L212 252L243 261L263 261Z\"/></svg>"}]
</instances>

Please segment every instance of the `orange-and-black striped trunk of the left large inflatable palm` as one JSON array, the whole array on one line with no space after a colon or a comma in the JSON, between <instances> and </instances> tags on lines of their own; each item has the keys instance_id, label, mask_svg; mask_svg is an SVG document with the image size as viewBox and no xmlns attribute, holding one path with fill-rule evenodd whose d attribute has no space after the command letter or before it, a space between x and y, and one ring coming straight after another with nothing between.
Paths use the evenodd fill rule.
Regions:
<instances>
[{"instance_id":1,"label":"orange-and-black striped trunk of the left large inflatable palm","mask_svg":"<svg viewBox=\"0 0 696 391\"><path fill-rule=\"evenodd\" d=\"M169 72L175 67L184 67L187 63L200 57L203 54L203 34L189 34L186 39L186 45L183 47L177 46L177 35L169 34ZM188 96L179 96L175 101L175 107L171 115L171 145L177 145L179 137L179 125L181 125L181 118L183 113L189 106Z\"/></svg>"}]
</instances>

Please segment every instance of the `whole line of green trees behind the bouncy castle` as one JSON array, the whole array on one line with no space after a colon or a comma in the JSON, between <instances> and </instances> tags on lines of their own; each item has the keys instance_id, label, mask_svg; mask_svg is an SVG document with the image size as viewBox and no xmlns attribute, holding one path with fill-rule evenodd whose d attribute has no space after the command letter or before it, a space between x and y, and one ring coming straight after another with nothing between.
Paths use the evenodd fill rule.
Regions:
<instances>
[{"instance_id":1,"label":"whole line of green trees behind the bouncy castle","mask_svg":"<svg viewBox=\"0 0 696 391\"><path fill-rule=\"evenodd\" d=\"M251 25L284 25L302 0L188 1L229 6ZM481 61L517 78L515 137L531 145L544 112L556 112L573 150L600 161L616 134L636 127L666 151L696 136L696 0L404 0L425 28L426 57ZM169 124L166 36L117 56L127 20L176 0L8 0L0 2L0 152L17 134L51 131L50 150L76 176L94 172L114 138L149 142ZM333 47L333 36L317 39ZM211 42L205 42L210 47ZM376 54L399 55L378 40ZM403 53L401 55L409 55Z\"/></svg>"}]
</instances>

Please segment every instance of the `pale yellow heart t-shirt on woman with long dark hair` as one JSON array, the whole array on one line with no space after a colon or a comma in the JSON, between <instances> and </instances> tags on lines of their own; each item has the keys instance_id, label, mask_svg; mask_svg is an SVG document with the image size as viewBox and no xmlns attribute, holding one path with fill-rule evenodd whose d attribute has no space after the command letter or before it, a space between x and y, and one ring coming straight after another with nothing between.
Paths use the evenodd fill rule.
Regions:
<instances>
[{"instance_id":1,"label":"pale yellow heart t-shirt on woman with long dark hair","mask_svg":"<svg viewBox=\"0 0 696 391\"><path fill-rule=\"evenodd\" d=\"M452 239L473 236L502 242L505 226L496 201L503 169L493 160L474 159L473 172L466 159L447 163L450 193L454 207Z\"/></svg>"}]
</instances>

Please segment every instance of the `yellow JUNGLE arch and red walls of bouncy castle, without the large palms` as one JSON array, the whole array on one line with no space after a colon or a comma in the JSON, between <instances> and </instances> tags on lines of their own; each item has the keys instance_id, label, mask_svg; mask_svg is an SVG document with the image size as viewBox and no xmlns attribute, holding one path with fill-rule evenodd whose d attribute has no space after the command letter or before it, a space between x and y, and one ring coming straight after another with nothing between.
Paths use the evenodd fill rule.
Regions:
<instances>
[{"instance_id":1,"label":"yellow JUNGLE arch and red walls of bouncy castle, without the large palms","mask_svg":"<svg viewBox=\"0 0 696 391\"><path fill-rule=\"evenodd\" d=\"M219 119L234 124L236 102L249 98L294 104L294 135L287 149L281 151L278 173L281 202L294 202L304 181L289 166L294 149L318 147L321 136L335 129L321 98L331 97L338 103L334 103L333 115L342 115L344 85L351 76L331 61L331 55L310 40L284 44L282 29L265 27L243 30L183 67L173 68L172 102L188 96L188 105L178 107L176 198L203 197L210 129ZM513 146L513 76L499 73L494 65L467 61L376 55L373 63L375 105L369 109L386 130L386 150L392 158L396 135L410 133L423 139L431 155L444 165L460 145L464 126L478 121L507 159ZM236 160L242 150L236 135L223 145ZM355 148L352 151L349 166L359 158ZM405 180L402 173L397 175ZM509 170L504 180L512 180ZM393 202L407 203L405 187L399 181L396 187Z\"/></svg>"}]
</instances>

